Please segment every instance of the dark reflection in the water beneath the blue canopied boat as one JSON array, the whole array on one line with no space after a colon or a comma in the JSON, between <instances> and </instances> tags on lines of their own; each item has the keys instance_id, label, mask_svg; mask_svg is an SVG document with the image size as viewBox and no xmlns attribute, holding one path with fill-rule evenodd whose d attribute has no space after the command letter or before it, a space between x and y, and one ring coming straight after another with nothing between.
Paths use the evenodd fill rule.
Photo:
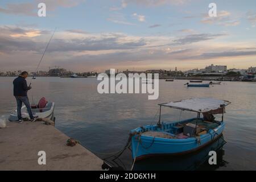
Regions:
<instances>
[{"instance_id":1,"label":"dark reflection in the water beneath the blue canopied boat","mask_svg":"<svg viewBox=\"0 0 256 182\"><path fill-rule=\"evenodd\" d=\"M134 165L134 170L165 170L165 171L195 171L195 170L215 170L225 166L223 159L225 144L224 137L220 137L214 143L202 148L200 151L182 156L162 156L148 158L138 161ZM216 151L217 165L208 163L209 151Z\"/></svg>"}]
</instances>

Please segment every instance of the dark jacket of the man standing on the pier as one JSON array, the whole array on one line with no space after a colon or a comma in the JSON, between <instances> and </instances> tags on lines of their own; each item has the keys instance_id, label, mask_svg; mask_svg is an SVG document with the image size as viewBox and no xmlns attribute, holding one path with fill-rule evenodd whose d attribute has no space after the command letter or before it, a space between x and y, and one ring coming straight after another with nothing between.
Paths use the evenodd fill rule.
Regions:
<instances>
[{"instance_id":1,"label":"dark jacket of the man standing on the pier","mask_svg":"<svg viewBox=\"0 0 256 182\"><path fill-rule=\"evenodd\" d=\"M27 86L27 81L25 78L19 76L13 81L13 94L14 96L27 96L27 90L30 87Z\"/></svg>"}]
</instances>

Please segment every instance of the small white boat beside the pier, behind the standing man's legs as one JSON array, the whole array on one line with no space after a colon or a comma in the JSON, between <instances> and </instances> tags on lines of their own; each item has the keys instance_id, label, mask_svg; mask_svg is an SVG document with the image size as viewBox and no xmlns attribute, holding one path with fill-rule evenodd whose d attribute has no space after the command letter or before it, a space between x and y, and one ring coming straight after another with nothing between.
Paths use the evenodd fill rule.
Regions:
<instances>
[{"instance_id":1,"label":"small white boat beside the pier, behind the standing man's legs","mask_svg":"<svg viewBox=\"0 0 256 182\"><path fill-rule=\"evenodd\" d=\"M54 102L48 102L45 107L42 109L39 109L37 107L32 107L32 113L34 117L39 117L39 118L48 118L51 119L52 121L55 121L55 117L53 114L55 104ZM22 118L30 118L29 114L27 112L27 107L22 106ZM15 110L13 113L10 113L9 121L18 121L18 115L17 115L17 110Z\"/></svg>"}]
</instances>

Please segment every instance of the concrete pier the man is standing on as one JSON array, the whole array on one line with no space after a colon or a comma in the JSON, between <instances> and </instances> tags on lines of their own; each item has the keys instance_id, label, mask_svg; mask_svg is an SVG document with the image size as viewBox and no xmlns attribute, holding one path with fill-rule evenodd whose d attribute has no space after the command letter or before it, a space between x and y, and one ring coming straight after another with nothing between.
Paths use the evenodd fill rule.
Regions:
<instances>
[{"instance_id":1,"label":"concrete pier the man is standing on","mask_svg":"<svg viewBox=\"0 0 256 182\"><path fill-rule=\"evenodd\" d=\"M103 161L80 144L67 146L67 135L42 122L7 122L0 129L0 170L102 170ZM46 165L38 152L46 152Z\"/></svg>"}]
</instances>

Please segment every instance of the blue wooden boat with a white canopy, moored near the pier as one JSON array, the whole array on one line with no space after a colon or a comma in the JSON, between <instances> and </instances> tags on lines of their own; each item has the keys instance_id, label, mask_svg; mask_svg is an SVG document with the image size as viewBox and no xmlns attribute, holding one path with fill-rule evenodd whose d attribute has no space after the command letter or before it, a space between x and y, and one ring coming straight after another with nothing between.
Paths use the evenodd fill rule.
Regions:
<instances>
[{"instance_id":1,"label":"blue wooden boat with a white canopy, moored near the pier","mask_svg":"<svg viewBox=\"0 0 256 182\"><path fill-rule=\"evenodd\" d=\"M200 150L222 136L225 106L229 101L214 98L191 98L159 104L159 121L131 130L133 159L140 160L159 155L184 155ZM197 113L197 117L171 123L161 122L162 107L171 107ZM200 115L203 114L203 117ZM222 114L216 121L214 114Z\"/></svg>"}]
</instances>

